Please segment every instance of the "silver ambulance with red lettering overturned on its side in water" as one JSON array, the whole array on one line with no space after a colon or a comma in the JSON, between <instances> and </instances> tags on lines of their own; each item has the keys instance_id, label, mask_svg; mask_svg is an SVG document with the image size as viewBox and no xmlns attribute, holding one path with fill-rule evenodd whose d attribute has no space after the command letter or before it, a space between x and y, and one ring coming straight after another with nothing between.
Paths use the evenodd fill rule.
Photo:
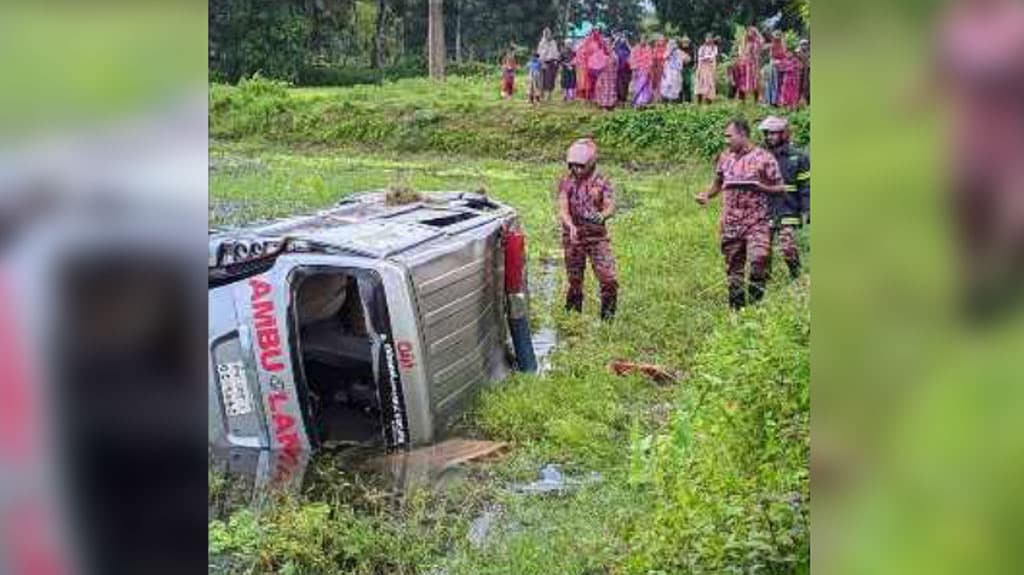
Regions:
<instances>
[{"instance_id":1,"label":"silver ambulance with red lettering overturned on its side in water","mask_svg":"<svg viewBox=\"0 0 1024 575\"><path fill-rule=\"evenodd\" d=\"M536 370L527 308L516 213L479 193L214 233L210 443L429 443L482 385Z\"/></svg>"}]
</instances>

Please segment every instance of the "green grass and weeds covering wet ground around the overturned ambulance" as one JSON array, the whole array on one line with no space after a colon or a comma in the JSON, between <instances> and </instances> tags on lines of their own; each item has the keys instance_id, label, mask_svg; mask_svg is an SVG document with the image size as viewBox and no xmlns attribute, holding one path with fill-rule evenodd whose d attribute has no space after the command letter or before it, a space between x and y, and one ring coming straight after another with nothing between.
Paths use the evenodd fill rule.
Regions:
<instances>
[{"instance_id":1,"label":"green grass and weeds covering wet ground around the overturned ambulance","mask_svg":"<svg viewBox=\"0 0 1024 575\"><path fill-rule=\"evenodd\" d=\"M486 89L484 81L460 82L465 85L449 89ZM389 90L397 91L306 89L288 97L324 105L336 96L362 98L368 109L416 101ZM424 90L422 114L450 104ZM519 102L486 105L506 104L525 109ZM710 114L733 112L723 105ZM542 122L593 114L563 106L525 113ZM212 126L224 120L216 118L215 106L211 114ZM478 137L498 138L496 129L481 125ZM423 487L397 497L322 457L302 494L259 513L243 510L211 521L215 570L806 571L810 276L791 283L776 261L778 273L765 302L741 313L728 311L716 237L718 206L703 210L692 201L708 184L709 163L690 159L655 167L615 162L611 154L602 164L624 206L611 223L620 315L605 325L596 317L596 284L589 272L583 316L560 310L563 273L550 265L561 256L553 204L559 163L411 152L386 138L370 151L366 142L310 146L272 133L249 136L211 144L213 223L319 208L347 193L393 184L420 190L483 187L519 210L531 278L554 270L558 290L547 301L536 298L532 313L535 323L555 326L559 344L547 375L516 375L487 391L464 423L468 433L511 442L505 457L475 466L465 481L445 489ZM539 153L539 160L549 153ZM639 377L614 377L605 364L616 358L664 365L680 373L680 381L660 387ZM600 480L561 496L509 489L536 479L548 462L570 476L596 472ZM220 485L215 479L214 486ZM474 544L467 533L485 510L498 519L486 539Z\"/></svg>"}]
</instances>

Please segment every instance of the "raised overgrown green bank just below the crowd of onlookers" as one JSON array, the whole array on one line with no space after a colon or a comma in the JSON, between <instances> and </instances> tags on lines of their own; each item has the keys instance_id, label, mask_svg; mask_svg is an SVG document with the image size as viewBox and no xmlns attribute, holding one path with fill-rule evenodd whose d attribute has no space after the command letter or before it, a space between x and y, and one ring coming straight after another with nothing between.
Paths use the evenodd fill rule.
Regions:
<instances>
[{"instance_id":1,"label":"raised overgrown green bank just below the crowd of onlookers","mask_svg":"<svg viewBox=\"0 0 1024 575\"><path fill-rule=\"evenodd\" d=\"M224 140L364 147L402 152L556 160L565 142L592 135L620 161L708 161L722 148L731 118L756 122L778 110L723 102L666 104L607 114L583 102L529 106L502 100L498 80L404 80L350 90L292 90L261 78L210 91L210 134ZM494 89L492 89L494 88ZM425 105L426 104L426 105ZM794 141L810 141L810 115L788 114Z\"/></svg>"}]
</instances>

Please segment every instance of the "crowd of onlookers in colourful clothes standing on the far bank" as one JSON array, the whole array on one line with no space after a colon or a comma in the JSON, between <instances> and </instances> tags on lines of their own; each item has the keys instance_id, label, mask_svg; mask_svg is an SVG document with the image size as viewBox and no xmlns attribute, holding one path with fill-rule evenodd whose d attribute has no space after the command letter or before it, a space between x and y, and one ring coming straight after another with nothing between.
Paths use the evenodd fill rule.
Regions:
<instances>
[{"instance_id":1,"label":"crowd of onlookers in colourful clothes standing on the far bank","mask_svg":"<svg viewBox=\"0 0 1024 575\"><path fill-rule=\"evenodd\" d=\"M562 99L591 101L606 109L657 101L710 103L721 96L719 67L724 64L725 97L790 109L810 103L808 40L800 40L791 50L782 32L766 38L754 26L737 40L726 58L720 52L721 39L711 34L699 46L687 37L660 35L631 44L622 34L607 38L594 30L559 45L545 29L526 62L527 98L530 103L551 99L560 77ZM512 50L501 64L502 95L510 98L518 70Z\"/></svg>"}]
</instances>

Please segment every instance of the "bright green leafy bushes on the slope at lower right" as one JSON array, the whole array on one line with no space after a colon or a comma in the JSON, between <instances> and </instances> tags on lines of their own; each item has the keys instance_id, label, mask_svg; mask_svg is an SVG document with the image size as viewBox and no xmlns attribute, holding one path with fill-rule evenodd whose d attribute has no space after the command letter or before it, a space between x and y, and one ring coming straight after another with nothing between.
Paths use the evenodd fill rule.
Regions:
<instances>
[{"instance_id":1,"label":"bright green leafy bushes on the slope at lower right","mask_svg":"<svg viewBox=\"0 0 1024 575\"><path fill-rule=\"evenodd\" d=\"M810 554L807 289L721 323L668 429L634 432L650 505L627 571L791 572ZM679 534L685 533L684 537Z\"/></svg>"}]
</instances>

